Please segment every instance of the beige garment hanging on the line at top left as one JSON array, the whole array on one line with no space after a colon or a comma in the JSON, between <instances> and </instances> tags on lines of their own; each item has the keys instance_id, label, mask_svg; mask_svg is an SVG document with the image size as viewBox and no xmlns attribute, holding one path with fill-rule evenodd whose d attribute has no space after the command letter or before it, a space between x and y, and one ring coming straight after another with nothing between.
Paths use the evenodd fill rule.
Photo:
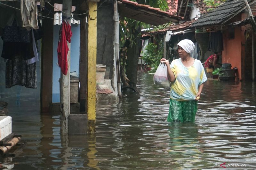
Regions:
<instances>
[{"instance_id":1,"label":"beige garment hanging on the line at top left","mask_svg":"<svg viewBox=\"0 0 256 170\"><path fill-rule=\"evenodd\" d=\"M37 3L35 0L20 0L20 14L22 27L28 30L32 27L38 29L37 25Z\"/></svg>"}]
</instances>

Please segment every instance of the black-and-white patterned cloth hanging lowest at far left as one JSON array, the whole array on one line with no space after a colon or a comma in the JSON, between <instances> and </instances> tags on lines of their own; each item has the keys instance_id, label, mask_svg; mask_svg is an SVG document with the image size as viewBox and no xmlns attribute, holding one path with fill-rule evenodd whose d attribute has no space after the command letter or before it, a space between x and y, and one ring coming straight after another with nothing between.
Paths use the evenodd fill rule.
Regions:
<instances>
[{"instance_id":1,"label":"black-and-white patterned cloth hanging lowest at far left","mask_svg":"<svg viewBox=\"0 0 256 170\"><path fill-rule=\"evenodd\" d=\"M15 56L6 62L5 87L22 85L27 88L36 88L36 63L27 65L22 56Z\"/></svg>"}]
</instances>

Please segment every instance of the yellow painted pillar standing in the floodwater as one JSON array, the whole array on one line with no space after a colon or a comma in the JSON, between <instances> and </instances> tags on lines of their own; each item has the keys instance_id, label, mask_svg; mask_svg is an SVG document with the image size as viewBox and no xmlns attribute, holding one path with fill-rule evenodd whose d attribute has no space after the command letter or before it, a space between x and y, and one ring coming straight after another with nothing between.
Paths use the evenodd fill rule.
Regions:
<instances>
[{"instance_id":1,"label":"yellow painted pillar standing in the floodwater","mask_svg":"<svg viewBox=\"0 0 256 170\"><path fill-rule=\"evenodd\" d=\"M96 57L97 57L97 2L88 2L88 133L95 133L96 123Z\"/></svg>"}]
</instances>

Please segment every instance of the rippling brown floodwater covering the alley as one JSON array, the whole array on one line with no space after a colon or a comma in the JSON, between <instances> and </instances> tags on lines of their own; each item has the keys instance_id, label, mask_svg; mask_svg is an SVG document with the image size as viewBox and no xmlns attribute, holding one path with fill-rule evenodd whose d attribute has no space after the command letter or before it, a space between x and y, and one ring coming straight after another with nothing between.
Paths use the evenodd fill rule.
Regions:
<instances>
[{"instance_id":1,"label":"rippling brown floodwater covering the alley","mask_svg":"<svg viewBox=\"0 0 256 170\"><path fill-rule=\"evenodd\" d=\"M40 115L36 102L12 106L12 131L28 144L20 156L1 159L0 167L219 169L226 162L256 169L255 83L208 80L195 123L166 122L169 91L139 72L138 92L126 92L119 103L97 103L95 136L66 140L60 137L60 115Z\"/></svg>"}]
</instances>

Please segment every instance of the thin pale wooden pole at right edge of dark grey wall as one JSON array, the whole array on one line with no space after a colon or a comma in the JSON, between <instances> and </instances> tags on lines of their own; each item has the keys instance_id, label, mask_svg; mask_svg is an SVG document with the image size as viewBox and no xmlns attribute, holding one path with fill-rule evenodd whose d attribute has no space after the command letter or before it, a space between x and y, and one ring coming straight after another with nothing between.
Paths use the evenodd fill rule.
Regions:
<instances>
[{"instance_id":1,"label":"thin pale wooden pole at right edge of dark grey wall","mask_svg":"<svg viewBox=\"0 0 256 170\"><path fill-rule=\"evenodd\" d=\"M116 57L116 79L117 93L119 99L122 100L121 77L120 77L120 61L119 61L119 17L117 11L117 0L114 0L114 29L115 29L115 57Z\"/></svg>"}]
</instances>

